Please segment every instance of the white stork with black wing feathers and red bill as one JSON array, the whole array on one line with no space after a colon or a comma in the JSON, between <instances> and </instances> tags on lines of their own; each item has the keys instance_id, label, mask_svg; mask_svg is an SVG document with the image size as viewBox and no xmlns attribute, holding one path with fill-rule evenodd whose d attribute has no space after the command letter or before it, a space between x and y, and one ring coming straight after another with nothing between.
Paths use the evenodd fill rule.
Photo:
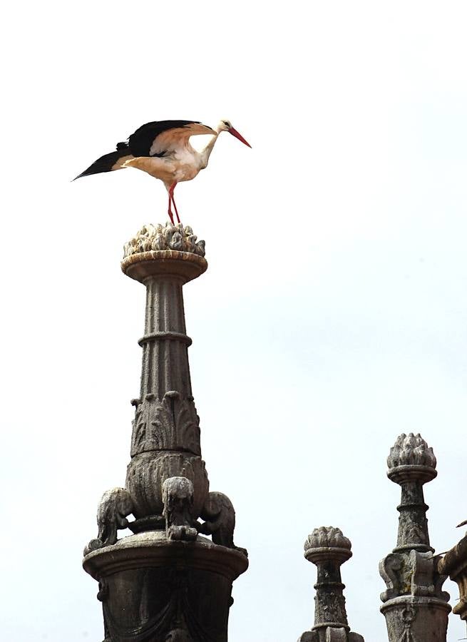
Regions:
<instances>
[{"instance_id":1,"label":"white stork with black wing feathers and red bill","mask_svg":"<svg viewBox=\"0 0 467 642\"><path fill-rule=\"evenodd\" d=\"M146 123L131 134L128 141L118 143L116 151L101 156L76 178L135 167L163 181L168 191L168 215L173 223L172 205L178 223L177 205L173 198L175 185L183 180L192 180L207 166L210 153L221 131L228 131L239 141L251 147L250 143L234 129L230 121L220 121L215 129L197 121L158 121ZM210 134L207 146L197 152L190 145L190 136ZM76 179L74 179L76 180Z\"/></svg>"}]
</instances>

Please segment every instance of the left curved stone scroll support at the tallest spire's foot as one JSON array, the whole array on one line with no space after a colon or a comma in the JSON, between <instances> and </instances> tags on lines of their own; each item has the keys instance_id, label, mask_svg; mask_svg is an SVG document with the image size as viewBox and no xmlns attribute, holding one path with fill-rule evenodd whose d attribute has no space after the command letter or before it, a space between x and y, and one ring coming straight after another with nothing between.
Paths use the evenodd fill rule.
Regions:
<instances>
[{"instance_id":1,"label":"left curved stone scroll support at the tallest spire's foot","mask_svg":"<svg viewBox=\"0 0 467 642\"><path fill-rule=\"evenodd\" d=\"M124 488L113 488L106 491L99 503L97 510L98 536L91 539L84 549L87 555L91 551L111 546L117 541L118 529L128 526L126 517L133 511L133 500L130 493Z\"/></svg>"}]
</instances>

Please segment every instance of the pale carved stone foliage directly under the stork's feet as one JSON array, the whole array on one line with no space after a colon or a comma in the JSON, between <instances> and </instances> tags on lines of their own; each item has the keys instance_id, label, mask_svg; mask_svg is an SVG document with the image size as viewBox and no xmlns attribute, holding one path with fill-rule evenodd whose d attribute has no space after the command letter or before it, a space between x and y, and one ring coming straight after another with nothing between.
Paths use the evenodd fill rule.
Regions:
<instances>
[{"instance_id":1,"label":"pale carved stone foliage directly under the stork's feet","mask_svg":"<svg viewBox=\"0 0 467 642\"><path fill-rule=\"evenodd\" d=\"M150 250L178 250L205 255L205 241L197 240L189 225L143 225L134 238L125 243L123 256L149 252Z\"/></svg>"}]
</instances>

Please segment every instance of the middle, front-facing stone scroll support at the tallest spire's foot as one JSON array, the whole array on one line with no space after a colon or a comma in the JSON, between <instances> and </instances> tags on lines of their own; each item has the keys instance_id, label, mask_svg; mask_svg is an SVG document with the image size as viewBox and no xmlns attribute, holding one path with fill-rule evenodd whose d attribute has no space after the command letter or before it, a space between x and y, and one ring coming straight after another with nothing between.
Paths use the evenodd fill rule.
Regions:
<instances>
[{"instance_id":1,"label":"middle, front-facing stone scroll support at the tallest spire's foot","mask_svg":"<svg viewBox=\"0 0 467 642\"><path fill-rule=\"evenodd\" d=\"M168 539L193 541L193 483L187 477L169 477L162 485L163 516Z\"/></svg>"}]
</instances>

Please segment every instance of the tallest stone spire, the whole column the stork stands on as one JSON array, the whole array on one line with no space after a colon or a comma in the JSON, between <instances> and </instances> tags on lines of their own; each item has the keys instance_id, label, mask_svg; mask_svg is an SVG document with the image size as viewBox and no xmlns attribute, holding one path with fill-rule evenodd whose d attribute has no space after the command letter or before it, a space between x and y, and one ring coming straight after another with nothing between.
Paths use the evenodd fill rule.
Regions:
<instances>
[{"instance_id":1,"label":"tallest stone spire, the whole column the stork stands on","mask_svg":"<svg viewBox=\"0 0 467 642\"><path fill-rule=\"evenodd\" d=\"M183 285L206 268L183 225L147 225L125 245L123 272L146 288L140 397L125 488L103 494L83 560L104 642L226 642L232 582L248 566L230 499L209 492L190 382Z\"/></svg>"}]
</instances>

